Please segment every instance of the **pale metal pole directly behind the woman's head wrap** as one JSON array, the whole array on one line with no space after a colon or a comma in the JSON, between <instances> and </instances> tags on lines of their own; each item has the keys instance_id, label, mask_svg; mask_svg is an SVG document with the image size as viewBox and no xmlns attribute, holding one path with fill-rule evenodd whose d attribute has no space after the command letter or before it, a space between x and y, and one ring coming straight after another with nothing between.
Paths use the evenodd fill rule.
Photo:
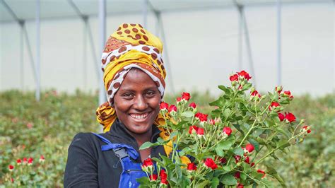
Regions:
<instances>
[{"instance_id":1,"label":"pale metal pole directly behind the woman's head wrap","mask_svg":"<svg viewBox=\"0 0 335 188\"><path fill-rule=\"evenodd\" d=\"M106 36L106 0L99 0L99 30L100 30L100 52L104 51ZM99 65L100 65L100 61ZM100 66L99 66L100 67ZM99 105L106 101L105 86L102 81L102 71L99 69Z\"/></svg>"}]
</instances>

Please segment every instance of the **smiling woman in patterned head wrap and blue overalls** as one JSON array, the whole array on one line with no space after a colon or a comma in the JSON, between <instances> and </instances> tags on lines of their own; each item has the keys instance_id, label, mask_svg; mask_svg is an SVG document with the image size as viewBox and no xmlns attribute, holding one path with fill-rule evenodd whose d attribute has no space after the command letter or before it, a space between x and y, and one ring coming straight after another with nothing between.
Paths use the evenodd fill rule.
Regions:
<instances>
[{"instance_id":1,"label":"smiling woman in patterned head wrap and blue overalls","mask_svg":"<svg viewBox=\"0 0 335 188\"><path fill-rule=\"evenodd\" d=\"M107 100L97 110L104 134L79 133L69 146L64 187L137 187L141 163L170 153L169 146L139 151L158 136L165 89L162 42L139 24L122 24L102 53Z\"/></svg>"}]
</instances>

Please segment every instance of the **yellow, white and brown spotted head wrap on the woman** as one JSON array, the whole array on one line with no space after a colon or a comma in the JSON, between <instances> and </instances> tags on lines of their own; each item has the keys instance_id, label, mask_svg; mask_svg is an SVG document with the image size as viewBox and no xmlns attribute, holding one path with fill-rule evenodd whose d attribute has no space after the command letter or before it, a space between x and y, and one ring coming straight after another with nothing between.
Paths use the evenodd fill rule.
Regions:
<instances>
[{"instance_id":1,"label":"yellow, white and brown spotted head wrap on the woman","mask_svg":"<svg viewBox=\"0 0 335 188\"><path fill-rule=\"evenodd\" d=\"M108 38L102 53L102 72L107 102L98 107L97 120L103 125L104 132L109 131L117 118L112 104L113 98L125 76L131 68L141 69L155 82L160 96L163 98L165 90L166 71L161 52L163 44L140 24L124 23ZM160 124L158 117L155 124Z\"/></svg>"}]
</instances>

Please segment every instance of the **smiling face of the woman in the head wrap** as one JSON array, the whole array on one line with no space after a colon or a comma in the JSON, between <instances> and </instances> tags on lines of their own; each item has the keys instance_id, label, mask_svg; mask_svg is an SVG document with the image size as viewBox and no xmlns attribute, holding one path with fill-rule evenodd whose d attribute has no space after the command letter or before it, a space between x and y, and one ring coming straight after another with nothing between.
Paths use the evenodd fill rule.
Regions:
<instances>
[{"instance_id":1,"label":"smiling face of the woman in the head wrap","mask_svg":"<svg viewBox=\"0 0 335 188\"><path fill-rule=\"evenodd\" d=\"M160 92L140 69L131 69L114 96L119 120L134 134L145 134L158 115Z\"/></svg>"}]
</instances>

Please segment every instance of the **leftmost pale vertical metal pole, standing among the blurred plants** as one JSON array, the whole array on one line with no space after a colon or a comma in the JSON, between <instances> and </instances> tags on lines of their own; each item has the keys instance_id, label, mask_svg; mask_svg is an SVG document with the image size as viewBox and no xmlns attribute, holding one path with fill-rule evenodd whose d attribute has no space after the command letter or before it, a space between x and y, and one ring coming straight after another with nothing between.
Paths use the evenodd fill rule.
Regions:
<instances>
[{"instance_id":1,"label":"leftmost pale vertical metal pole, standing among the blurred plants","mask_svg":"<svg viewBox=\"0 0 335 188\"><path fill-rule=\"evenodd\" d=\"M40 101L40 0L36 0L36 93L37 101Z\"/></svg>"}]
</instances>

